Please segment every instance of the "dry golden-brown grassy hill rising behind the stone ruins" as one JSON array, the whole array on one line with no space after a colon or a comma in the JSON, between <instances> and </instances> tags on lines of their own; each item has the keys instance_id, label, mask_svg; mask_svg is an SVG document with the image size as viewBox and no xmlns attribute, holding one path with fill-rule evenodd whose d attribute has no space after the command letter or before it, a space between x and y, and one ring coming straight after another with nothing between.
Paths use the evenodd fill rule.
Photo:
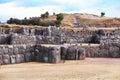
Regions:
<instances>
[{"instance_id":1,"label":"dry golden-brown grassy hill rising behind the stone ruins","mask_svg":"<svg viewBox=\"0 0 120 80\"><path fill-rule=\"evenodd\" d=\"M99 15L87 14L87 13L73 13L73 14L62 13L62 14L64 18L61 21L60 27L73 28L73 27L84 27L84 26L94 27L95 26L97 28L101 28L101 27L108 28L108 27L120 26L120 18L111 18L106 16L101 17ZM46 25L46 22L54 25L56 18L57 18L56 15L50 15L47 18L32 17L30 19L39 20L45 25ZM7 27L9 26L7 25ZM17 26L14 26L14 27L17 27Z\"/></svg>"}]
</instances>

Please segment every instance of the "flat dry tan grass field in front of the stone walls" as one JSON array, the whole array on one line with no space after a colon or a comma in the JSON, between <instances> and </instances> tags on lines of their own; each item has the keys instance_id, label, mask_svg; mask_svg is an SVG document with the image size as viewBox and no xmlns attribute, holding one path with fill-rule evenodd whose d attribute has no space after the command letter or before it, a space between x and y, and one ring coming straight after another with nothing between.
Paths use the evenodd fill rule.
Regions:
<instances>
[{"instance_id":1,"label":"flat dry tan grass field in front of the stone walls","mask_svg":"<svg viewBox=\"0 0 120 80\"><path fill-rule=\"evenodd\" d=\"M0 80L120 80L120 59L4 65L0 69Z\"/></svg>"}]
</instances>

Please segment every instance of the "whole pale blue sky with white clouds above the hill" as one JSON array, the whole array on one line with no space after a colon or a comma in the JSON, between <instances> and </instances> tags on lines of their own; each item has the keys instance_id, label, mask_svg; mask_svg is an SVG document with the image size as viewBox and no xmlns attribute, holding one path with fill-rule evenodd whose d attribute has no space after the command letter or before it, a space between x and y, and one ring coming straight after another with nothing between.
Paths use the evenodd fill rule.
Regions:
<instances>
[{"instance_id":1,"label":"whole pale blue sky with white clouds above the hill","mask_svg":"<svg viewBox=\"0 0 120 80\"><path fill-rule=\"evenodd\" d=\"M0 0L0 21L9 18L40 16L46 11L92 13L120 17L120 0Z\"/></svg>"}]
</instances>

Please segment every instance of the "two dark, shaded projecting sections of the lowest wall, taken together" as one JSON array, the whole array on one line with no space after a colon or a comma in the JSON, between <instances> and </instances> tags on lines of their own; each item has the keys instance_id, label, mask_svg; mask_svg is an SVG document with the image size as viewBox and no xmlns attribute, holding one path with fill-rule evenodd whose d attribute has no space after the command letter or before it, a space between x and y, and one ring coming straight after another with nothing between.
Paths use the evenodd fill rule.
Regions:
<instances>
[{"instance_id":1,"label":"two dark, shaded projecting sections of the lowest wall, taken together","mask_svg":"<svg viewBox=\"0 0 120 80\"><path fill-rule=\"evenodd\" d=\"M83 60L86 53L84 48L75 45L36 45L36 59L38 62L59 63L61 60Z\"/></svg>"}]
</instances>

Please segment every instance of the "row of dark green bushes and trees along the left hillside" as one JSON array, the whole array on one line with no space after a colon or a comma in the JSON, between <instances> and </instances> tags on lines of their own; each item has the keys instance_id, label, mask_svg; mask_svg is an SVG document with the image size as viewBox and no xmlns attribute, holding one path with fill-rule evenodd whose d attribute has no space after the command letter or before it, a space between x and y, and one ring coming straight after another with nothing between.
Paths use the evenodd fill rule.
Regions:
<instances>
[{"instance_id":1,"label":"row of dark green bushes and trees along the left hillside","mask_svg":"<svg viewBox=\"0 0 120 80\"><path fill-rule=\"evenodd\" d=\"M39 17L32 17L27 19L26 17L22 20L16 19L16 18L10 18L7 20L8 24L19 24L19 25L39 25L39 26L60 26L61 21L63 20L63 14L57 14L56 15L56 21L40 21ZM47 18L49 17L49 13L46 12L45 14L41 14L42 18Z\"/></svg>"}]
</instances>

